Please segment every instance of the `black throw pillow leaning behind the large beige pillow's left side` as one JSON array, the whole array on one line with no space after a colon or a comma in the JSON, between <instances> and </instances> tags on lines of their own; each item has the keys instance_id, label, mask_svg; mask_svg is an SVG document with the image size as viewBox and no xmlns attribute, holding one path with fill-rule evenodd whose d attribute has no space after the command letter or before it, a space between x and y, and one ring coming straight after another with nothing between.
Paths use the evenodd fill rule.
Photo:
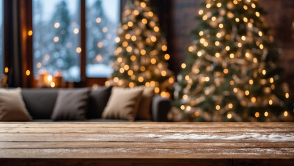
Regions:
<instances>
[{"instance_id":1,"label":"black throw pillow leaning behind the large beige pillow's left side","mask_svg":"<svg viewBox=\"0 0 294 166\"><path fill-rule=\"evenodd\" d=\"M101 118L101 114L110 98L111 90L112 86L102 86L91 90L87 118Z\"/></svg>"}]
</instances>

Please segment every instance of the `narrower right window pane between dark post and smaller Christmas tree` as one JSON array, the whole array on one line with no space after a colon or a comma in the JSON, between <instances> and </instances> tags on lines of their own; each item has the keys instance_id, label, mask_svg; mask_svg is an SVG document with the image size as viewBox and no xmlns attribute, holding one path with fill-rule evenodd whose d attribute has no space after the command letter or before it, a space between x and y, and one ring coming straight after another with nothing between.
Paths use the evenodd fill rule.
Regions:
<instances>
[{"instance_id":1,"label":"narrower right window pane between dark post and smaller Christmas tree","mask_svg":"<svg viewBox=\"0 0 294 166\"><path fill-rule=\"evenodd\" d=\"M87 77L108 77L112 73L110 56L116 49L119 0L86 1Z\"/></svg>"}]
</instances>

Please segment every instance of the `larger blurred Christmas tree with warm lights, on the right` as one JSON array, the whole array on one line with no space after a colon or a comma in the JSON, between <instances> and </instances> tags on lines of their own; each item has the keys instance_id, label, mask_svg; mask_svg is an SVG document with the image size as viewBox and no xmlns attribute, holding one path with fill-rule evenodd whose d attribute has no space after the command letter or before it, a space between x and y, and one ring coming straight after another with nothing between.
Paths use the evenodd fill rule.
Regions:
<instances>
[{"instance_id":1,"label":"larger blurred Christmas tree with warm lights, on the right","mask_svg":"<svg viewBox=\"0 0 294 166\"><path fill-rule=\"evenodd\" d=\"M257 1L207 0L198 14L175 89L183 119L292 120L293 100Z\"/></svg>"}]
</instances>

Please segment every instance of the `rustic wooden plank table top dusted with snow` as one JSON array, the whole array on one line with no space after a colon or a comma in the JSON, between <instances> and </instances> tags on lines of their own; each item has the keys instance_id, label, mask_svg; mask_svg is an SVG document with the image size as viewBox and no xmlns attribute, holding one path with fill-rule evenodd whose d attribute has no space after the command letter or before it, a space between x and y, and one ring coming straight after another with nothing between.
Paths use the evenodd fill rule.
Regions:
<instances>
[{"instance_id":1,"label":"rustic wooden plank table top dusted with snow","mask_svg":"<svg viewBox=\"0 0 294 166\"><path fill-rule=\"evenodd\" d=\"M0 158L294 158L293 122L0 122Z\"/></svg>"}]
</instances>

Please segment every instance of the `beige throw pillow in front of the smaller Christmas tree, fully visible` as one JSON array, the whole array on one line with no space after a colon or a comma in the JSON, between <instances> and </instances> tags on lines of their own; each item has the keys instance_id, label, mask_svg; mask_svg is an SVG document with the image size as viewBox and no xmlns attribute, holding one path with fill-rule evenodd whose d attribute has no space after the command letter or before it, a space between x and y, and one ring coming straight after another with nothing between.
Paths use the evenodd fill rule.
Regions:
<instances>
[{"instance_id":1,"label":"beige throw pillow in front of the smaller Christmas tree, fully visible","mask_svg":"<svg viewBox=\"0 0 294 166\"><path fill-rule=\"evenodd\" d=\"M113 87L110 99L102 113L105 119L134 121L143 89Z\"/></svg>"}]
</instances>

